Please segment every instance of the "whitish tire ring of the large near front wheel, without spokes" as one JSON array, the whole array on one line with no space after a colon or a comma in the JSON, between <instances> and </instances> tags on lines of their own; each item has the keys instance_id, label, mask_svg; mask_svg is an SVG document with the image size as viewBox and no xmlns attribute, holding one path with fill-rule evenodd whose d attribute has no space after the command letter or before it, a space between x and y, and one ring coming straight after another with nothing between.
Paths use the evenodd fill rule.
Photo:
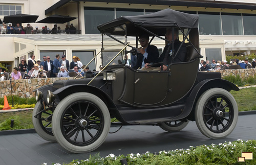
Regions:
<instances>
[{"instance_id":1,"label":"whitish tire ring of the large near front wheel, without spokes","mask_svg":"<svg viewBox=\"0 0 256 165\"><path fill-rule=\"evenodd\" d=\"M99 135L98 139L94 143L88 146L76 146L69 143L68 140L63 136L61 132L60 121L61 121L62 113L70 104L74 103L78 99L86 100L96 104L98 108L101 110L104 118L104 127L101 135ZM66 97L65 99L61 100L61 102L59 102L56 109L54 110L52 118L53 118L52 119L53 134L58 144L60 144L66 150L74 153L90 152L98 148L104 142L106 136L108 135L110 130L110 125L111 125L111 119L110 119L110 113L109 113L108 107L106 107L105 103L100 98L87 92L73 93L68 97Z\"/></svg>"}]
</instances>

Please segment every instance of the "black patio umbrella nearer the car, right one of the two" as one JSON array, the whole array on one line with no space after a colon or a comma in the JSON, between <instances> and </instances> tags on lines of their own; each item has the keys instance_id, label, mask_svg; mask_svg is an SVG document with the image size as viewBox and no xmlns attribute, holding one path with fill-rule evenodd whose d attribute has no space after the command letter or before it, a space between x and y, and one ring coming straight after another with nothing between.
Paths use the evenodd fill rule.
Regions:
<instances>
[{"instance_id":1,"label":"black patio umbrella nearer the car, right one of the two","mask_svg":"<svg viewBox=\"0 0 256 165\"><path fill-rule=\"evenodd\" d=\"M45 19L39 20L36 23L66 23L74 19L76 19L76 17L52 15L52 16L46 17Z\"/></svg>"}]
</instances>

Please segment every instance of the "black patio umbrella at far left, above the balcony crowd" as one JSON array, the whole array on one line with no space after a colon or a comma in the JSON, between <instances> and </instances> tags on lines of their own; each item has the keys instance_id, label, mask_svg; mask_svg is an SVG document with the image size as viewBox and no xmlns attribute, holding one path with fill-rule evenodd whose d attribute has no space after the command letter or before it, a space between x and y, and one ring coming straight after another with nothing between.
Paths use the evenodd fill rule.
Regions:
<instances>
[{"instance_id":1,"label":"black patio umbrella at far left, above the balcony crowd","mask_svg":"<svg viewBox=\"0 0 256 165\"><path fill-rule=\"evenodd\" d=\"M31 23L35 22L38 18L38 15L30 15L30 14L15 14L4 17L4 22L11 23Z\"/></svg>"}]
</instances>

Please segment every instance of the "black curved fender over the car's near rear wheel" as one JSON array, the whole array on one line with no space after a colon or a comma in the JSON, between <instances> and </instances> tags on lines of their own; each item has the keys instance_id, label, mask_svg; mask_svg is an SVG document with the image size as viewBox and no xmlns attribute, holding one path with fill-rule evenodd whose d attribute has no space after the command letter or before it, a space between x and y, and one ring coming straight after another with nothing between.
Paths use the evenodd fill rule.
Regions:
<instances>
[{"instance_id":1,"label":"black curved fender over the car's near rear wheel","mask_svg":"<svg viewBox=\"0 0 256 165\"><path fill-rule=\"evenodd\" d=\"M227 91L236 90L239 91L239 88L233 83L223 80L223 79L208 79L198 83L194 89L191 91L189 97L186 99L186 102L192 103L192 106L185 106L185 112L190 112L187 119L195 121L195 106L198 98L202 93L210 88L223 88Z\"/></svg>"}]
</instances>

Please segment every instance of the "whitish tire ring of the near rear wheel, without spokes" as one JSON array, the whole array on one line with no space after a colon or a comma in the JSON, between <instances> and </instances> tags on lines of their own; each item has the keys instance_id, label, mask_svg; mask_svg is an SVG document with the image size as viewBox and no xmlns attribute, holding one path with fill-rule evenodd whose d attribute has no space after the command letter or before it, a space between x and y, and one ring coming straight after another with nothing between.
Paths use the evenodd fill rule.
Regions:
<instances>
[{"instance_id":1,"label":"whitish tire ring of the near rear wheel, without spokes","mask_svg":"<svg viewBox=\"0 0 256 165\"><path fill-rule=\"evenodd\" d=\"M233 121L230 125L230 127L222 133L215 133L210 131L203 120L203 110L204 110L204 104L205 102L214 95L223 95L227 99L229 99L230 103L232 104L233 107ZM195 119L196 119L196 124L198 129L207 137L212 138L212 139L218 139L218 138L224 138L228 136L233 129L237 125L238 121L238 106L236 100L234 100L233 96L225 89L222 88L211 88L206 90L198 99L197 104L196 104L196 109L195 109Z\"/></svg>"}]
</instances>

